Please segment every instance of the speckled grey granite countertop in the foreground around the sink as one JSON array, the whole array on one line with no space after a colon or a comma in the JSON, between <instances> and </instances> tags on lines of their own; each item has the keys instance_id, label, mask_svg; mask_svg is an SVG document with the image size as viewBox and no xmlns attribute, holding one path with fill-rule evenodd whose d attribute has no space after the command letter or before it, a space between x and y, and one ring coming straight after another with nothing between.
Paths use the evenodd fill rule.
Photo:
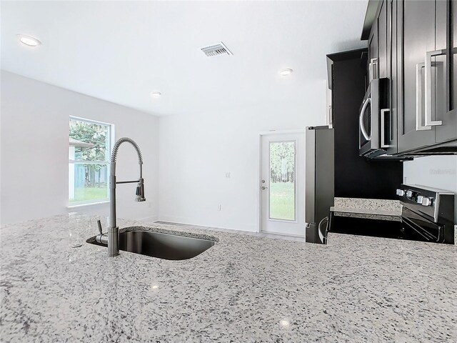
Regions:
<instances>
[{"instance_id":1,"label":"speckled grey granite countertop in the foreground around the sink","mask_svg":"<svg viewBox=\"0 0 457 343\"><path fill-rule=\"evenodd\" d=\"M104 247L70 247L96 234L95 220L0 229L1 342L457 340L453 246L332 233L323 246L149 224L219 242L183 261L108 258Z\"/></svg>"}]
</instances>

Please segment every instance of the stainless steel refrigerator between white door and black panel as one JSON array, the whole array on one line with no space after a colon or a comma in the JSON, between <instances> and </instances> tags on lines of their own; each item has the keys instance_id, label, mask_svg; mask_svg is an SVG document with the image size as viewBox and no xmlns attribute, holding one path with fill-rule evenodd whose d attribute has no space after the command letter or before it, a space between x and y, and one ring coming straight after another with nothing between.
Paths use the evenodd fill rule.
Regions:
<instances>
[{"instance_id":1,"label":"stainless steel refrigerator between white door and black panel","mask_svg":"<svg viewBox=\"0 0 457 343\"><path fill-rule=\"evenodd\" d=\"M328 126L308 126L306 133L306 242L323 244L335 194L335 134Z\"/></svg>"}]
</instances>

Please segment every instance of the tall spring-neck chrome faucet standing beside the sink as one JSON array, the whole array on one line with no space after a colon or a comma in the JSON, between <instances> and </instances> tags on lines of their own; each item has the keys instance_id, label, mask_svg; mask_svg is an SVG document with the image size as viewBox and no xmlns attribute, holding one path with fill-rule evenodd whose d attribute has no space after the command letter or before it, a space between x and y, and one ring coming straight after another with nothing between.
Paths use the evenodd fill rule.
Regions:
<instances>
[{"instance_id":1,"label":"tall spring-neck chrome faucet standing beside the sink","mask_svg":"<svg viewBox=\"0 0 457 343\"><path fill-rule=\"evenodd\" d=\"M129 142L136 149L138 154L138 163L140 165L140 177L138 180L133 181L119 181L116 182L116 157L119 150L119 146L125 141ZM109 228L108 234L104 234L101 229L101 223L98 221L99 234L96 236L96 241L102 244L108 244L108 256L114 257L119 255L119 227L116 225L116 184L131 184L138 183L136 185L135 201L144 202L144 179L143 179L143 157L139 146L133 139L124 137L118 139L114 144L113 151L111 152L111 164L109 174Z\"/></svg>"}]
</instances>

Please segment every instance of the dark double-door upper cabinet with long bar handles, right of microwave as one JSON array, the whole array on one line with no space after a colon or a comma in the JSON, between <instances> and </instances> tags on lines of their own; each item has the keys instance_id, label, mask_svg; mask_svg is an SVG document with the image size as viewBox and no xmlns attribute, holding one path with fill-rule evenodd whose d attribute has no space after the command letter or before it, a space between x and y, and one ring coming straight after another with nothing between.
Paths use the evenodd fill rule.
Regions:
<instances>
[{"instance_id":1,"label":"dark double-door upper cabinet with long bar handles, right of microwave","mask_svg":"<svg viewBox=\"0 0 457 343\"><path fill-rule=\"evenodd\" d=\"M396 1L400 153L457 139L456 6L455 1Z\"/></svg>"}]
</instances>

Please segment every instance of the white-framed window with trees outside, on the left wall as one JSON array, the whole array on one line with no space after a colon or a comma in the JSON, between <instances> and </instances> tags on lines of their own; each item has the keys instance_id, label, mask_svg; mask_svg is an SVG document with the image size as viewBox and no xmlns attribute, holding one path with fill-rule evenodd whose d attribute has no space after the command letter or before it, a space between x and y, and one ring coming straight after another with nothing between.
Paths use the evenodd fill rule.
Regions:
<instances>
[{"instance_id":1,"label":"white-framed window with trees outside, on the left wall","mask_svg":"<svg viewBox=\"0 0 457 343\"><path fill-rule=\"evenodd\" d=\"M111 124L70 118L69 205L93 204L109 199L108 170Z\"/></svg>"}]
</instances>

